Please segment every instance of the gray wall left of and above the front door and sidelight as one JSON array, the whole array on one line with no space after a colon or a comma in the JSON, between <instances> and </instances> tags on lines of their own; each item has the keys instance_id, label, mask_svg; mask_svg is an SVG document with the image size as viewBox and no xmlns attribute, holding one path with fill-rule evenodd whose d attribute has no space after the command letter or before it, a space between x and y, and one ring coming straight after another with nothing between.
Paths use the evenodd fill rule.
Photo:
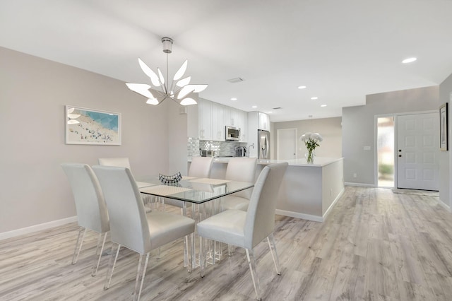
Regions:
<instances>
[{"instance_id":1,"label":"gray wall left of and above the front door and sidelight","mask_svg":"<svg viewBox=\"0 0 452 301\"><path fill-rule=\"evenodd\" d=\"M344 182L375 185L374 117L379 114L438 110L439 86L367 95L366 105L344 107ZM364 146L371 146L364 151ZM357 173L357 178L353 178Z\"/></svg>"}]
</instances>

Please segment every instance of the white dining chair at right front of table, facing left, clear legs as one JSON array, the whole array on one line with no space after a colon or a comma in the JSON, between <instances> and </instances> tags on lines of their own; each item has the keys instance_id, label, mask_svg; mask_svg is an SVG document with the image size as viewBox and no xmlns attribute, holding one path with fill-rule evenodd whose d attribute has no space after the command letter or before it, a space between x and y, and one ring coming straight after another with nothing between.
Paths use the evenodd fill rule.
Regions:
<instances>
[{"instance_id":1,"label":"white dining chair at right front of table, facing left, clear legs","mask_svg":"<svg viewBox=\"0 0 452 301\"><path fill-rule=\"evenodd\" d=\"M280 184L283 180L287 163L268 165L263 168L254 185L248 211L226 210L206 218L197 225L201 246L201 277L206 268L206 253L203 237L242 247L246 250L246 258L258 300L261 300L261 288L256 273L256 262L253 248L267 238L270 253L273 257L276 273L280 274L278 253L276 252L273 229L275 228L276 201Z\"/></svg>"}]
</instances>

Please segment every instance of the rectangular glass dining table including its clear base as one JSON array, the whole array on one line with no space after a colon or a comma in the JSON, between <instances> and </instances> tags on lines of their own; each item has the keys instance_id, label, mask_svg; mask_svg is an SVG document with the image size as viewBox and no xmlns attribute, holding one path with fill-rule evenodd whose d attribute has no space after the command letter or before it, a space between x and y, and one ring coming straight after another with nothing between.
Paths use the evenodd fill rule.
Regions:
<instances>
[{"instance_id":1,"label":"rectangular glass dining table including its clear base","mask_svg":"<svg viewBox=\"0 0 452 301\"><path fill-rule=\"evenodd\" d=\"M191 217L194 218L196 223L220 210L220 206L215 208L215 203L211 201L254 187L254 183L251 182L238 182L227 179L182 177L182 180L175 184L163 184L156 177L137 177L136 179L142 194L184 202L184 214L186 214L186 205L191 203ZM206 205L210 205L207 211ZM196 214L196 210L198 210L198 214ZM195 244L195 240L191 240L192 268L198 266L196 264ZM215 254L215 250L213 254ZM215 255L213 256L213 262L215 262Z\"/></svg>"}]
</instances>

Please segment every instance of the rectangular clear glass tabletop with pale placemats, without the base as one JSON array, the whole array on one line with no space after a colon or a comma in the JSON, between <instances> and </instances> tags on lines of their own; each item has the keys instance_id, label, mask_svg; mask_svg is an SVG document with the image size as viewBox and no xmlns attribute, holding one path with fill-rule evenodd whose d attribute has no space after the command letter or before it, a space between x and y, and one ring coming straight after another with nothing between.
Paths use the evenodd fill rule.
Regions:
<instances>
[{"instance_id":1,"label":"rectangular clear glass tabletop with pale placemats, without the base","mask_svg":"<svg viewBox=\"0 0 452 301\"><path fill-rule=\"evenodd\" d=\"M254 187L254 183L249 182L191 177L182 178L182 181L177 184L162 184L157 178L139 177L137 183L139 183L138 188L143 194L163 196L190 203L205 203Z\"/></svg>"}]
</instances>

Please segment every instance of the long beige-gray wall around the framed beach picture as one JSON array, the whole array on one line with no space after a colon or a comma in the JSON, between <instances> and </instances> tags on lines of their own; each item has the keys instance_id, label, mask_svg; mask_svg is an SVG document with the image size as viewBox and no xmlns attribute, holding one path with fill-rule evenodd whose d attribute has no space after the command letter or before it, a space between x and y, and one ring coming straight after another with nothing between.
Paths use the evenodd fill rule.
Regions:
<instances>
[{"instance_id":1,"label":"long beige-gray wall around the framed beach picture","mask_svg":"<svg viewBox=\"0 0 452 301\"><path fill-rule=\"evenodd\" d=\"M60 163L124 156L134 175L168 172L165 102L145 105L121 81L1 47L0 66L0 233L76 216ZM66 145L64 105L121 113L122 145Z\"/></svg>"}]
</instances>

